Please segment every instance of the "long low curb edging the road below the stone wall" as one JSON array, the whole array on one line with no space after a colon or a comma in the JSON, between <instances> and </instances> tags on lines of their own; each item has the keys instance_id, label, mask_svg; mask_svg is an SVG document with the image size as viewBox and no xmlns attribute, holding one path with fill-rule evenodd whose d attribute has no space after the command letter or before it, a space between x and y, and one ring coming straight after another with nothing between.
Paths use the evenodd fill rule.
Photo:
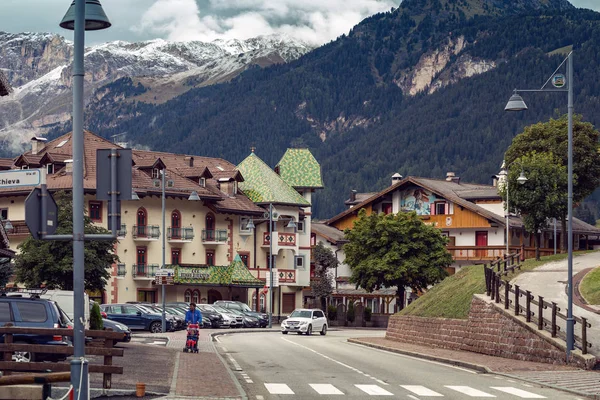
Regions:
<instances>
[{"instance_id":1,"label":"long low curb edging the road below the stone wall","mask_svg":"<svg viewBox=\"0 0 600 400\"><path fill-rule=\"evenodd\" d=\"M373 344L373 343L365 343L360 341L360 339L348 339L349 343L353 343L353 344L357 344L360 346L365 346L365 347L372 347L374 349L378 349L378 350L383 350L383 351L389 351L390 353L397 353L397 354L403 354L406 356L411 356L411 357L415 357L415 358L422 358L425 360L429 360L429 361L437 361L443 364L449 364L449 365L454 365L454 366L458 366L458 367L463 367L463 368L469 368L472 369L474 371L478 371L484 374L494 374L494 375L499 375L499 376L505 376L507 378L511 378L511 379L517 379L523 382L528 382L528 383L532 383L535 385L539 385L539 386L543 386L543 387L548 387L548 388L552 388L552 389L556 389L556 390L561 390L563 392L567 392L567 393L571 393L571 394L575 394L578 396L583 396L586 397L588 399L594 399L594 400L600 400L600 394L592 394L592 393L586 393L586 392L581 392L578 390L573 390L573 389L569 389L569 388L565 388L562 386L557 386L557 385L551 385L548 383L541 383L532 379L527 379L524 377L520 377L520 376L516 376L516 375L511 375L511 374L507 374L507 373L503 373L503 372L496 372L493 371L492 369L483 366L483 365L479 365L479 364L475 364L475 363L469 363L469 362L465 362L465 361L459 361L459 360L453 360L451 358L444 358L444 357L438 357L438 356L430 356L429 354L423 354L423 353L416 353L413 351L408 351L408 350L401 350L401 349L395 349L392 347L387 347L387 346L381 346L378 344Z\"/></svg>"}]
</instances>

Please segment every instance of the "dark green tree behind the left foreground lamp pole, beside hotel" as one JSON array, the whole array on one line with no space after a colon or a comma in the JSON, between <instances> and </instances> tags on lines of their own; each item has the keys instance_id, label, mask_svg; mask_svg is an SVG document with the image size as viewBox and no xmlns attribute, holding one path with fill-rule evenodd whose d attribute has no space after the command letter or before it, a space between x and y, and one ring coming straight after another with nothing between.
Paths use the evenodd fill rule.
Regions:
<instances>
[{"instance_id":1,"label":"dark green tree behind the left foreground lamp pole, beside hotel","mask_svg":"<svg viewBox=\"0 0 600 400\"><path fill-rule=\"evenodd\" d=\"M73 204L66 192L54 194L58 205L57 234L73 232ZM109 233L92 224L85 216L85 233ZM85 242L85 289L102 290L110 277L109 267L118 261L115 240ZM73 290L73 244L71 241L35 240L31 236L19 245L15 257L16 280L30 287L45 284L49 288Z\"/></svg>"}]
</instances>

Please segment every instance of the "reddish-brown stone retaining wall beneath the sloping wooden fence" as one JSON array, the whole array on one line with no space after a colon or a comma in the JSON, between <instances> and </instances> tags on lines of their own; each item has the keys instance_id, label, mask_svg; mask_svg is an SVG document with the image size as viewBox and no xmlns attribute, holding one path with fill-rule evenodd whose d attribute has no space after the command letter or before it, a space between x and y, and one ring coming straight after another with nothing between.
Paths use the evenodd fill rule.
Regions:
<instances>
[{"instance_id":1,"label":"reddish-brown stone retaining wall beneath the sloping wooden fence","mask_svg":"<svg viewBox=\"0 0 600 400\"><path fill-rule=\"evenodd\" d=\"M394 315L386 338L400 342L472 351L523 361L566 364L565 344L548 332L538 331L524 318L511 315L483 295L473 296L469 318L423 318ZM590 369L591 355L576 350L571 363Z\"/></svg>"}]
</instances>

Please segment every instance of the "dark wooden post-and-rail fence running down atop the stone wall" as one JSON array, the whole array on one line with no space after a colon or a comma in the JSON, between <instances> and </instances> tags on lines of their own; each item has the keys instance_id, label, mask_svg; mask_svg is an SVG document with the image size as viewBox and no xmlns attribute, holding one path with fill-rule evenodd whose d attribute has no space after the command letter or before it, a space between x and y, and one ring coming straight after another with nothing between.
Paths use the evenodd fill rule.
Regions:
<instances>
[{"instance_id":1,"label":"dark wooden post-and-rail fence running down atop the stone wall","mask_svg":"<svg viewBox=\"0 0 600 400\"><path fill-rule=\"evenodd\" d=\"M536 321L538 330L547 330L552 337L560 337L566 341L567 335L557 324L557 319L564 320L566 324L567 316L560 312L560 308L555 302L548 302L542 296L537 296L536 300L529 290L524 290L519 285L511 285L510 282L502 279L516 269L521 269L521 264L518 263L520 259L521 254L515 253L509 255L508 258L493 261L489 267L484 265L487 296L496 304L504 304L505 310L512 309L515 315L523 315L527 322ZM522 298L524 298L524 306L521 302ZM532 308L537 308L537 313ZM544 317L544 310L548 309L550 310L549 319ZM579 325L581 329L581 336L574 335L575 346L580 348L583 354L587 354L588 348L592 347L592 344L587 341L587 328L591 328L592 325L583 317L573 316L573 319L575 327Z\"/></svg>"}]
</instances>

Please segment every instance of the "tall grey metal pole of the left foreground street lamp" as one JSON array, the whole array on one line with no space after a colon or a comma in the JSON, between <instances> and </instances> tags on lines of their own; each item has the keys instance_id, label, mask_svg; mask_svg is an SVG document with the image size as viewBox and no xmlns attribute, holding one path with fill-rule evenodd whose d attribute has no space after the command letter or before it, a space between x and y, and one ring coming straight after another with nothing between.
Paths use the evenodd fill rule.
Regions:
<instances>
[{"instance_id":1,"label":"tall grey metal pole of the left foreground street lamp","mask_svg":"<svg viewBox=\"0 0 600 400\"><path fill-rule=\"evenodd\" d=\"M84 206L83 206L83 51L85 0L75 0L73 51L73 360L71 385L74 398L89 398L88 362L85 359L84 307Z\"/></svg>"}]
</instances>

